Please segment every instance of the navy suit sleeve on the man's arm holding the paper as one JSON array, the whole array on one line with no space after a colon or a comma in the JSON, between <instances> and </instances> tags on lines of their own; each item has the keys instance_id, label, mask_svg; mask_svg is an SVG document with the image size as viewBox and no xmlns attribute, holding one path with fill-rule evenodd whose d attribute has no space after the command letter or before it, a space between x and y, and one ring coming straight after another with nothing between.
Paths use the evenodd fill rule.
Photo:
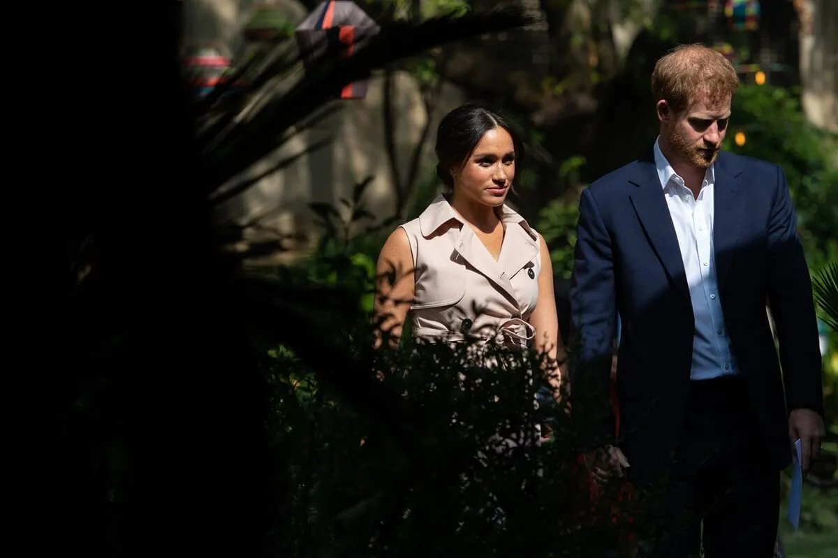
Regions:
<instances>
[{"instance_id":1,"label":"navy suit sleeve on the man's arm holding the paper","mask_svg":"<svg viewBox=\"0 0 838 558\"><path fill-rule=\"evenodd\" d=\"M824 415L818 325L812 283L789 185L777 168L777 191L768 222L768 300L779 339L786 406Z\"/></svg>"}]
</instances>

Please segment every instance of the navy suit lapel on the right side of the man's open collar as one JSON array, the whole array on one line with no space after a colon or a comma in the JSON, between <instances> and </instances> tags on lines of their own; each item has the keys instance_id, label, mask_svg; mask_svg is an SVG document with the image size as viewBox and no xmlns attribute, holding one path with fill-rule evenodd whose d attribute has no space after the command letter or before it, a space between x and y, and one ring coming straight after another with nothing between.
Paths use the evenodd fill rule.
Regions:
<instances>
[{"instance_id":1,"label":"navy suit lapel on the right side of the man's open collar","mask_svg":"<svg viewBox=\"0 0 838 558\"><path fill-rule=\"evenodd\" d=\"M745 196L739 187L741 171L730 167L727 164L729 159L724 155L721 153L716 160L716 183L713 185L713 252L716 256L716 282L720 290L737 247L745 205Z\"/></svg>"}]
</instances>

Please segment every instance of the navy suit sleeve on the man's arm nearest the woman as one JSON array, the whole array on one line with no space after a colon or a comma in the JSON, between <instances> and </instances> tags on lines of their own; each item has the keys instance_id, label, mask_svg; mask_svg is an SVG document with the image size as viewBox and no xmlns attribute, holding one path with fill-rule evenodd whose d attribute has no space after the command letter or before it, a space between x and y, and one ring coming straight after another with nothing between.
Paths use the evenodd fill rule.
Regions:
<instances>
[{"instance_id":1,"label":"navy suit sleeve on the man's arm nearest the woman","mask_svg":"<svg viewBox=\"0 0 838 558\"><path fill-rule=\"evenodd\" d=\"M570 301L571 399L585 450L615 442L609 392L617 314L611 237L588 189L579 202Z\"/></svg>"}]
</instances>

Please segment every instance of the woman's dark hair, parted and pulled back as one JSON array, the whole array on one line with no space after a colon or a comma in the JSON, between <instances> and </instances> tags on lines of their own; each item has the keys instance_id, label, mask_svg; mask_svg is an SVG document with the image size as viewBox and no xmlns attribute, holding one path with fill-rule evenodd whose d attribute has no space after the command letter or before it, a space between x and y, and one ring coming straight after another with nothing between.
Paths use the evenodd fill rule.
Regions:
<instances>
[{"instance_id":1,"label":"woman's dark hair, parted and pulled back","mask_svg":"<svg viewBox=\"0 0 838 558\"><path fill-rule=\"evenodd\" d=\"M524 149L515 129L498 111L477 103L458 106L442 118L437 128L437 176L448 188L453 188L452 168L459 168L477 147L484 133L504 128L515 146L515 167L520 168Z\"/></svg>"}]
</instances>

